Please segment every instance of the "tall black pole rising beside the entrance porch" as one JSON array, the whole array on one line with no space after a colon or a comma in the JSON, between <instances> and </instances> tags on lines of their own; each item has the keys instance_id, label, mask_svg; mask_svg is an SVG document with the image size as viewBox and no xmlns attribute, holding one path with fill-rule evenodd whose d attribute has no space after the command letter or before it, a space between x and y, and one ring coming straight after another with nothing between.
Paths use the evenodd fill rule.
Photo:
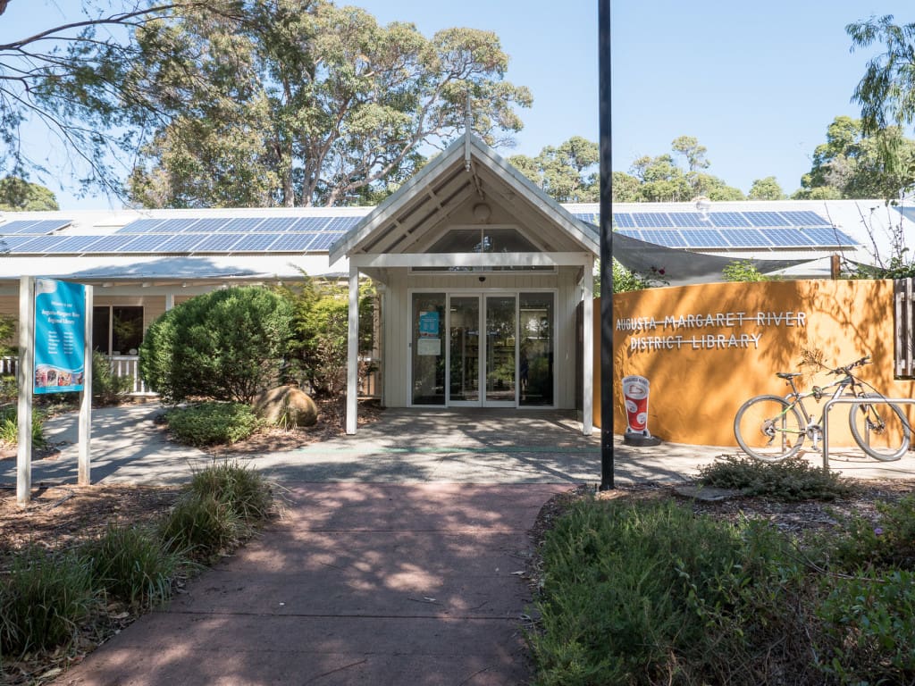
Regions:
<instances>
[{"instance_id":1,"label":"tall black pole rising beside the entrance porch","mask_svg":"<svg viewBox=\"0 0 915 686\"><path fill-rule=\"evenodd\" d=\"M600 490L613 487L613 172L610 146L610 0L598 0L600 89Z\"/></svg>"}]
</instances>

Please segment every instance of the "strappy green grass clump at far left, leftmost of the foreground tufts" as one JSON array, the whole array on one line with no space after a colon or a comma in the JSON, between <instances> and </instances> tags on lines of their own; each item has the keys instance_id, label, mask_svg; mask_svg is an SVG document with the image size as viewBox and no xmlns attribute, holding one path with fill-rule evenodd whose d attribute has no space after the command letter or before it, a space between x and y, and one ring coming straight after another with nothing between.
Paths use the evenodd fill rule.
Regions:
<instances>
[{"instance_id":1,"label":"strappy green grass clump at far left, leftmost of the foreground tufts","mask_svg":"<svg viewBox=\"0 0 915 686\"><path fill-rule=\"evenodd\" d=\"M0 658L69 643L95 606L92 575L75 555L19 552L0 577Z\"/></svg>"}]
</instances>

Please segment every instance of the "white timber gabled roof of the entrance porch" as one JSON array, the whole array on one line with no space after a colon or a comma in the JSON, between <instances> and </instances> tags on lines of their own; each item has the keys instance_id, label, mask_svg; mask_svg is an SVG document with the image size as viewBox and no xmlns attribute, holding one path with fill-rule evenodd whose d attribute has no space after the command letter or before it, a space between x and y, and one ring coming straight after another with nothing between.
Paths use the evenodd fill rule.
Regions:
<instances>
[{"instance_id":1,"label":"white timber gabled roof of the entrance porch","mask_svg":"<svg viewBox=\"0 0 915 686\"><path fill-rule=\"evenodd\" d=\"M577 219L489 145L464 134L331 245L330 263L357 253L422 252L436 229L462 210L466 214L468 205L484 202L493 215L511 217L536 234L544 252L600 251L596 227Z\"/></svg>"}]
</instances>

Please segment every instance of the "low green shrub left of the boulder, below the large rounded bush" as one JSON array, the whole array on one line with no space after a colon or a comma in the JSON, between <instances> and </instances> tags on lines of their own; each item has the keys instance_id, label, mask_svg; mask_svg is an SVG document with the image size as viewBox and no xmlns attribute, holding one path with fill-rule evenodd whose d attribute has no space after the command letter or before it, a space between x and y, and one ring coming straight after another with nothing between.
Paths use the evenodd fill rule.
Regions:
<instances>
[{"instance_id":1,"label":"low green shrub left of the boulder, below the large rounded bush","mask_svg":"<svg viewBox=\"0 0 915 686\"><path fill-rule=\"evenodd\" d=\"M201 402L166 413L168 429L184 445L232 444L254 434L263 422L250 405Z\"/></svg>"}]
</instances>

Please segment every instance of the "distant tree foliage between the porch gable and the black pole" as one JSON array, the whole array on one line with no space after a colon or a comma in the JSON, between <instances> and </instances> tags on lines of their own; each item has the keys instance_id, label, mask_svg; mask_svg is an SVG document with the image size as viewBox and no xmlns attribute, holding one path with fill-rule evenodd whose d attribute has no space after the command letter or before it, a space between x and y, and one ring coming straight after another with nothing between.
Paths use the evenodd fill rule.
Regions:
<instances>
[{"instance_id":1,"label":"distant tree foliage between the porch gable and the black pole","mask_svg":"<svg viewBox=\"0 0 915 686\"><path fill-rule=\"evenodd\" d=\"M576 135L559 147L547 145L536 157L513 155L509 162L557 202L597 202L599 159L597 143Z\"/></svg>"}]
</instances>

